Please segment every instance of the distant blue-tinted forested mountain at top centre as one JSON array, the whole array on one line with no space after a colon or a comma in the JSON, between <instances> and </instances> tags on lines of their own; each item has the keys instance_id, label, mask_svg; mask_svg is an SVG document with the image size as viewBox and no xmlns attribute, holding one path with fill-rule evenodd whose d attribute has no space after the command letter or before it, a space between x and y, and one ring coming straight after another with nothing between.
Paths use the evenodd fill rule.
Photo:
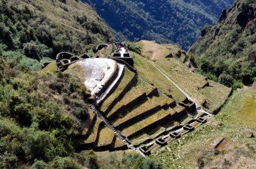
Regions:
<instances>
[{"instance_id":1,"label":"distant blue-tinted forested mountain at top centre","mask_svg":"<svg viewBox=\"0 0 256 169\"><path fill-rule=\"evenodd\" d=\"M130 41L156 40L187 49L203 26L214 24L233 0L83 0L106 23Z\"/></svg>"}]
</instances>

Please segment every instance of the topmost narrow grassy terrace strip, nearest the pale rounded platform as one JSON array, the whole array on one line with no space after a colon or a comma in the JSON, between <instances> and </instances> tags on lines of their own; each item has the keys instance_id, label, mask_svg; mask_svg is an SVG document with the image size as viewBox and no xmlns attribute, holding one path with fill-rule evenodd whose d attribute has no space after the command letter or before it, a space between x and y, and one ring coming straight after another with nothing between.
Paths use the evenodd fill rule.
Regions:
<instances>
[{"instance_id":1,"label":"topmost narrow grassy terrace strip, nearest the pale rounded platform","mask_svg":"<svg viewBox=\"0 0 256 169\"><path fill-rule=\"evenodd\" d=\"M121 79L115 92L113 92L113 94L110 94L110 96L108 96L108 98L106 98L104 102L102 102L102 104L100 105L100 110L102 110L102 112L106 111L108 106L110 106L110 104L119 96L119 94L121 94L121 92L123 92L123 89L129 84L131 79L133 79L133 77L135 76L135 73L129 71L129 69L125 68L124 70L125 73L123 75L123 78Z\"/></svg>"}]
</instances>

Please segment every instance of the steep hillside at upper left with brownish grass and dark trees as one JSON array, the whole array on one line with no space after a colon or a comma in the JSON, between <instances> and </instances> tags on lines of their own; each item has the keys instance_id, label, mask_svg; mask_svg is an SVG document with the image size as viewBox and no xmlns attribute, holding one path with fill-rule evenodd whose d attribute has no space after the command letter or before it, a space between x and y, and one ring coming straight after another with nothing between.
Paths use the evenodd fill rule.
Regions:
<instances>
[{"instance_id":1,"label":"steep hillside at upper left with brownish grass and dark trees","mask_svg":"<svg viewBox=\"0 0 256 169\"><path fill-rule=\"evenodd\" d=\"M115 39L96 11L81 1L1 0L0 8L1 53L15 50L33 63L31 59L55 58L63 50L82 53L86 44Z\"/></svg>"}]
</instances>

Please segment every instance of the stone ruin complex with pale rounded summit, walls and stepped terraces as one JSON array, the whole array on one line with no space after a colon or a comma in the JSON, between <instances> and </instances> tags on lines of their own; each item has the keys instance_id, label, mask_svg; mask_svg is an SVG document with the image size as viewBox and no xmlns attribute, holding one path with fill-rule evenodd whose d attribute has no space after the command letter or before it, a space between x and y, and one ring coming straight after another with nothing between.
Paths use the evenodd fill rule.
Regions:
<instances>
[{"instance_id":1,"label":"stone ruin complex with pale rounded summit, walls and stepped terraces","mask_svg":"<svg viewBox=\"0 0 256 169\"><path fill-rule=\"evenodd\" d=\"M125 44L100 44L94 57L59 53L56 64L57 71L65 71L69 65L82 67L84 85L92 95L88 100L90 119L85 122L88 127L80 137L79 150L134 149L148 156L211 116L179 86L182 102L143 79Z\"/></svg>"}]
</instances>

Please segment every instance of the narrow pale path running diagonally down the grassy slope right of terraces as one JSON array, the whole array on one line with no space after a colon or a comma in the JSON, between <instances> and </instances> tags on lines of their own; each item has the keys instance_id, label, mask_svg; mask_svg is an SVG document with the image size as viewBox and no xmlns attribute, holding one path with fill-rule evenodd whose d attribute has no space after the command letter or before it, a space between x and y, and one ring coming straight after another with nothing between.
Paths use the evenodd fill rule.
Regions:
<instances>
[{"instance_id":1,"label":"narrow pale path running diagonally down the grassy slope right of terraces","mask_svg":"<svg viewBox=\"0 0 256 169\"><path fill-rule=\"evenodd\" d=\"M170 79L166 74L166 71L164 71L162 68L160 68L158 65L156 65L156 63L149 61L160 73L162 73L162 75L164 75L164 77L166 77L166 79L168 79L168 81L170 81L176 88L178 88L191 102L195 103L195 106L197 108L197 112L203 112L209 116L214 116L212 114L210 114L209 112L206 112L205 110L202 109L202 106L195 101L193 98L191 98L191 96L189 96L189 94L187 94L184 90L182 90L176 83L174 83L174 81L172 81L172 79ZM161 70L162 69L162 70Z\"/></svg>"}]
</instances>

